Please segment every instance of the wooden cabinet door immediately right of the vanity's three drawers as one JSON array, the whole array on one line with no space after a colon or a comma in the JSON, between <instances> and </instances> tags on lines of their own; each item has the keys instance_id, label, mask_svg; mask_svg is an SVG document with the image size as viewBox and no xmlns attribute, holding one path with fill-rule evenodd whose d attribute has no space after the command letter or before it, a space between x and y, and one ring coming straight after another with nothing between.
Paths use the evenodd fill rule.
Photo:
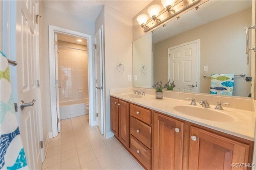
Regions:
<instances>
[{"instance_id":1,"label":"wooden cabinet door immediately right of the vanity's three drawers","mask_svg":"<svg viewBox=\"0 0 256 170\"><path fill-rule=\"evenodd\" d=\"M182 169L183 124L154 112L152 169Z\"/></svg>"}]
</instances>

